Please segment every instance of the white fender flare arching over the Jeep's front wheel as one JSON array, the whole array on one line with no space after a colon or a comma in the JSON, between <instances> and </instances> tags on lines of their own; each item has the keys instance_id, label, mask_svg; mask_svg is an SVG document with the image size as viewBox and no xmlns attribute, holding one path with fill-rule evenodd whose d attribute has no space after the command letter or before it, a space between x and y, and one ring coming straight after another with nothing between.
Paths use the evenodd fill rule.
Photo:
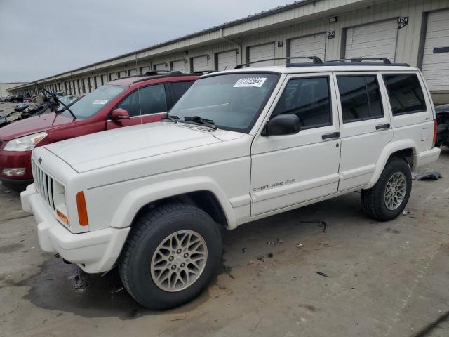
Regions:
<instances>
[{"instance_id":1,"label":"white fender flare arching over the Jeep's front wheel","mask_svg":"<svg viewBox=\"0 0 449 337\"><path fill-rule=\"evenodd\" d=\"M221 190L215 180L202 176L168 180L130 191L117 207L110 226L114 228L129 227L143 206L156 200L198 191L212 192L225 213L228 227L236 227L234 211L225 192Z\"/></svg>"}]
</instances>

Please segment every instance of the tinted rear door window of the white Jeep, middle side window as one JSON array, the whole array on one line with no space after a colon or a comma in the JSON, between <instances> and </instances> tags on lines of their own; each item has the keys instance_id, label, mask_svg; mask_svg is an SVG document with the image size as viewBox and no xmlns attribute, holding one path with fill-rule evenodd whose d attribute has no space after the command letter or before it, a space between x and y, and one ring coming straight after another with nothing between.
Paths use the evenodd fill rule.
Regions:
<instances>
[{"instance_id":1,"label":"tinted rear door window of the white Jeep, middle side window","mask_svg":"<svg viewBox=\"0 0 449 337\"><path fill-rule=\"evenodd\" d=\"M338 76L343 123L384 117L375 75Z\"/></svg>"}]
</instances>

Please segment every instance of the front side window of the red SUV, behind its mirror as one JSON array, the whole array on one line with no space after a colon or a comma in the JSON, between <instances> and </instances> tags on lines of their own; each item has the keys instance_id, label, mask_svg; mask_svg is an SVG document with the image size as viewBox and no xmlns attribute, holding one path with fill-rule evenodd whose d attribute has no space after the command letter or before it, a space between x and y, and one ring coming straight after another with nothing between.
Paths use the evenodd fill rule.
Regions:
<instances>
[{"instance_id":1,"label":"front side window of the red SUV, behind its mirror","mask_svg":"<svg viewBox=\"0 0 449 337\"><path fill-rule=\"evenodd\" d=\"M129 112L130 116L156 114L167 111L166 91L163 84L145 86L130 93L117 106Z\"/></svg>"}]
</instances>

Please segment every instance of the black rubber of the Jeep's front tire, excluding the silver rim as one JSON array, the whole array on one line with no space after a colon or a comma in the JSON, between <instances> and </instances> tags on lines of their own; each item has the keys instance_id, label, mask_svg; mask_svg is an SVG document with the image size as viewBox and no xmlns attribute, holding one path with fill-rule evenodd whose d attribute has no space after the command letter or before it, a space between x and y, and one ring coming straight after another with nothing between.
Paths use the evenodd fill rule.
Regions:
<instances>
[{"instance_id":1,"label":"black rubber of the Jeep's front tire, excluding the silver rim","mask_svg":"<svg viewBox=\"0 0 449 337\"><path fill-rule=\"evenodd\" d=\"M170 234L190 230L201 235L207 245L203 272L186 289L170 292L156 285L150 265L159 244ZM165 310L196 298L217 274L222 260L220 227L195 206L171 203L147 209L134 220L119 261L120 277L128 293L146 308ZM176 283L176 282L175 282Z\"/></svg>"}]
</instances>

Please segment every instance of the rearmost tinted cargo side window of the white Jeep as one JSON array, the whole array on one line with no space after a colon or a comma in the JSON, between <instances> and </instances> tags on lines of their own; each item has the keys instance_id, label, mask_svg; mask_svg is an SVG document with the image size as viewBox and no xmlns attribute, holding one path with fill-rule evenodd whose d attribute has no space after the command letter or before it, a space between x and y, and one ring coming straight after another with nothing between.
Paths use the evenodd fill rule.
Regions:
<instances>
[{"instance_id":1,"label":"rearmost tinted cargo side window of the white Jeep","mask_svg":"<svg viewBox=\"0 0 449 337\"><path fill-rule=\"evenodd\" d=\"M416 74L384 74L391 112L411 114L426 111L426 102Z\"/></svg>"}]
</instances>

